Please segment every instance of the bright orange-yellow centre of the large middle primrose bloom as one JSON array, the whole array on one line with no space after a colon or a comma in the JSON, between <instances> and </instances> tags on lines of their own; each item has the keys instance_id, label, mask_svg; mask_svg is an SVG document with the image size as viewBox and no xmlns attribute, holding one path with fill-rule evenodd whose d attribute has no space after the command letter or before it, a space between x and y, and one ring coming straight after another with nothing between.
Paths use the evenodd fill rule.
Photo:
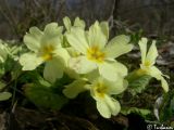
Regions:
<instances>
[{"instance_id":1,"label":"bright orange-yellow centre of the large middle primrose bloom","mask_svg":"<svg viewBox=\"0 0 174 130\"><path fill-rule=\"evenodd\" d=\"M104 61L105 54L99 50L98 47L91 47L87 50L88 60L95 61L97 63L102 63Z\"/></svg>"}]
</instances>

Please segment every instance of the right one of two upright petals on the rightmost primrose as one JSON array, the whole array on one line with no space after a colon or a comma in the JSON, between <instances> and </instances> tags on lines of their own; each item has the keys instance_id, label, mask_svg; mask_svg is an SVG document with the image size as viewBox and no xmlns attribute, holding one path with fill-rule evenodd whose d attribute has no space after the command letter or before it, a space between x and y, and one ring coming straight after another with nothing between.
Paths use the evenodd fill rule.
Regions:
<instances>
[{"instance_id":1,"label":"right one of two upright petals on the rightmost primrose","mask_svg":"<svg viewBox=\"0 0 174 130\"><path fill-rule=\"evenodd\" d=\"M150 65L153 65L156 63L157 56L158 56L158 50L156 47L156 41L153 41L147 53L146 61L150 63Z\"/></svg>"}]
</instances>

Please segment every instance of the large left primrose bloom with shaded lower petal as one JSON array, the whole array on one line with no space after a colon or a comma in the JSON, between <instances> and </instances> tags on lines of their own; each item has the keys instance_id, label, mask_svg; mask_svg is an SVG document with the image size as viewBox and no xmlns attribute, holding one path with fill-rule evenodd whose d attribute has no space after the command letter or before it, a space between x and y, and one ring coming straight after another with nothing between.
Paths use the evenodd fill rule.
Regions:
<instances>
[{"instance_id":1,"label":"large left primrose bloom with shaded lower petal","mask_svg":"<svg viewBox=\"0 0 174 130\"><path fill-rule=\"evenodd\" d=\"M57 23L48 24L41 31L32 27L24 36L24 42L32 51L20 57L23 70L33 70L46 63L44 77L50 82L63 76L63 69L70 57L67 51L61 47L62 27Z\"/></svg>"}]
</instances>

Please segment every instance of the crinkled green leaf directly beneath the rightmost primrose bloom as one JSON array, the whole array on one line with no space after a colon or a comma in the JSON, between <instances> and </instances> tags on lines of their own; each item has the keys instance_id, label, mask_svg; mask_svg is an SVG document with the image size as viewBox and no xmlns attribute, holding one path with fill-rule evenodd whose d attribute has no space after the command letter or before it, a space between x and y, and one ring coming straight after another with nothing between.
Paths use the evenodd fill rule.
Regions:
<instances>
[{"instance_id":1,"label":"crinkled green leaf directly beneath the rightmost primrose bloom","mask_svg":"<svg viewBox=\"0 0 174 130\"><path fill-rule=\"evenodd\" d=\"M130 73L126 79L128 80L128 89L133 95L141 93L148 86L151 76L138 75L137 72Z\"/></svg>"}]
</instances>

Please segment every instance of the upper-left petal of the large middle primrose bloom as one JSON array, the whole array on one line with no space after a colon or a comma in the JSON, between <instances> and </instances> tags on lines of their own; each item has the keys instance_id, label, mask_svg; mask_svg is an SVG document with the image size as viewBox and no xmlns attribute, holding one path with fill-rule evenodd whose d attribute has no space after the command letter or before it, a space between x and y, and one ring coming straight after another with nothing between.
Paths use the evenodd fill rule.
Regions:
<instances>
[{"instance_id":1,"label":"upper-left petal of the large middle primrose bloom","mask_svg":"<svg viewBox=\"0 0 174 130\"><path fill-rule=\"evenodd\" d=\"M86 39L86 32L82 28L72 28L71 32L66 34L69 43L78 52L86 54L88 43Z\"/></svg>"}]
</instances>

